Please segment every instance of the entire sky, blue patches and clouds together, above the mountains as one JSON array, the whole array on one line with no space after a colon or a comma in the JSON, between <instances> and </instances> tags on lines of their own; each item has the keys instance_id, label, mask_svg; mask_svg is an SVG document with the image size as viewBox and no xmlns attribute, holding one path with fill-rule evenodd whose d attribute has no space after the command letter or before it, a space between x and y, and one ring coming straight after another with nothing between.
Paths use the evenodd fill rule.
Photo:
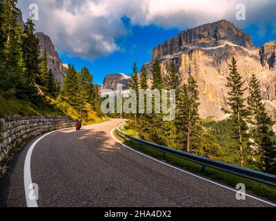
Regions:
<instances>
[{"instance_id":1,"label":"entire sky, blue patches and clouds together, above the mountains","mask_svg":"<svg viewBox=\"0 0 276 221\"><path fill-rule=\"evenodd\" d=\"M244 4L245 21L237 21ZM37 10L32 11L36 4ZM110 73L131 74L151 60L152 48L181 30L226 19L244 29L256 46L276 40L275 0L19 0L26 21L50 36L63 63L87 66L95 83Z\"/></svg>"}]
</instances>

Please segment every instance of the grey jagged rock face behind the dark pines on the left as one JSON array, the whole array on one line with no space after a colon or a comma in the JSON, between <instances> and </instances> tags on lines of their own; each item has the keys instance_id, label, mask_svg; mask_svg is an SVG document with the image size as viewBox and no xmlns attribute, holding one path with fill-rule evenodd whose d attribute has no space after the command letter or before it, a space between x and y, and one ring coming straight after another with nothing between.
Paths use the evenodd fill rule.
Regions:
<instances>
[{"instance_id":1,"label":"grey jagged rock face behind the dark pines on the left","mask_svg":"<svg viewBox=\"0 0 276 221\"><path fill-rule=\"evenodd\" d=\"M48 35L44 35L41 32L37 32L35 35L39 39L41 56L43 56L44 51L46 50L48 68L55 74L57 81L62 84L66 71L68 70L68 66L66 64L62 64L59 59L59 54L55 50L55 46L52 44L52 41Z\"/></svg>"}]
</instances>

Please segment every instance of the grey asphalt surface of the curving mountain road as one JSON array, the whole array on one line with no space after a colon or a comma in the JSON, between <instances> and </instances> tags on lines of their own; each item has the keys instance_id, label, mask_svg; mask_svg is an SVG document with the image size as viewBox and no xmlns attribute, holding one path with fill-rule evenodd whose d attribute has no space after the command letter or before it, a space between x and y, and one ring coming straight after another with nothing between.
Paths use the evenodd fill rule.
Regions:
<instances>
[{"instance_id":1,"label":"grey asphalt surface of the curving mountain road","mask_svg":"<svg viewBox=\"0 0 276 221\"><path fill-rule=\"evenodd\" d=\"M121 119L43 137L31 157L38 206L271 206L132 151L110 135ZM27 206L18 153L0 179L0 206Z\"/></svg>"}]
</instances>

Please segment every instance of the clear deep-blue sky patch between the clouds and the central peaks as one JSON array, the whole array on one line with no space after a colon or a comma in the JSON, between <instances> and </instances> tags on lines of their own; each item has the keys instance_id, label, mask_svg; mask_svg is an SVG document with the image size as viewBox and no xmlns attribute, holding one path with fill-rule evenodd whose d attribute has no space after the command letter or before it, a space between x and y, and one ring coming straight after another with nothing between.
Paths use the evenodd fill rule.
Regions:
<instances>
[{"instance_id":1,"label":"clear deep-blue sky patch between the clouds and the central peaks","mask_svg":"<svg viewBox=\"0 0 276 221\"><path fill-rule=\"evenodd\" d=\"M94 81L103 84L103 77L111 73L124 73L131 75L131 67L134 61L141 67L151 60L152 48L163 43L166 39L179 33L179 29L164 29L157 26L134 26L128 37L118 39L117 44L121 50L111 55L88 61L80 57L68 57L61 55L64 63L72 63L77 70L86 66L93 73Z\"/></svg>"}]
</instances>

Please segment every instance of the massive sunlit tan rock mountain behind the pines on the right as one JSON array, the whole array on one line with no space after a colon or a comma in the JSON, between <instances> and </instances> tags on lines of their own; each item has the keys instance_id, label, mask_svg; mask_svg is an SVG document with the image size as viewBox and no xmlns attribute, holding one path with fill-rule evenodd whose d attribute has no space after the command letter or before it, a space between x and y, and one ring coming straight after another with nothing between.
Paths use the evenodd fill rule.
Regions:
<instances>
[{"instance_id":1,"label":"massive sunlit tan rock mountain behind the pines on the right","mask_svg":"<svg viewBox=\"0 0 276 221\"><path fill-rule=\"evenodd\" d=\"M199 115L202 118L214 117L215 119L221 119L221 117L224 117L221 108L226 108L227 106L228 88L226 88L226 77L229 75L228 64L230 64L232 57L237 59L238 71L243 79L246 80L245 86L248 86L252 73L256 73L261 81L261 90L266 107L268 109L275 109L276 41L271 41L265 44L264 47L255 48L249 35L244 34L244 32L235 27L233 28L233 24L231 25L231 23L222 22L225 23L225 26L221 26L221 21L219 21L217 25L214 23L208 24L206 27L201 26L194 28L192 31L188 30L182 33L195 32L195 30L208 30L210 38L205 36L204 39L212 39L213 41L213 33L217 33L217 27L219 27L219 32L225 33L224 39L227 39L227 41L224 41L224 44L221 44L221 38L218 38L217 42L214 41L212 43L213 46L211 46L212 44L195 43L194 47L189 50L186 50L186 48L178 52L177 50L179 49L172 50L171 54L166 54L166 56L163 54L164 50L157 52L157 48L165 46L165 48L174 48L175 41L170 40L166 44L170 42L172 45L168 46L165 44L165 46L155 48L152 58L154 59L157 55L160 56L159 61L164 75L166 75L166 67L172 60L175 61L179 68L183 83L188 80L189 75L193 75L197 79L201 103ZM211 30L210 27L215 28L215 30ZM233 30L233 33L231 33L231 30ZM235 38L233 38L234 36ZM190 42L192 40L188 39L186 41ZM152 61L145 64L148 69L149 78L152 75L151 65ZM247 95L248 92L246 92L245 96Z\"/></svg>"}]
</instances>

